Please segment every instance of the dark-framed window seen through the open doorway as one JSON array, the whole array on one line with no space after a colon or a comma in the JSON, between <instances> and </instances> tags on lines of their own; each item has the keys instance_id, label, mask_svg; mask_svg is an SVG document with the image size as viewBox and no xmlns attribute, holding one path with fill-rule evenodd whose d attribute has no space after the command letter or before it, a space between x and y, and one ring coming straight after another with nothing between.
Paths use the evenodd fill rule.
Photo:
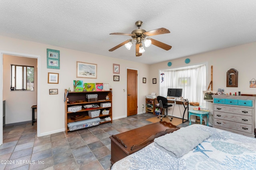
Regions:
<instances>
[{"instance_id":1,"label":"dark-framed window seen through the open doorway","mask_svg":"<svg viewBox=\"0 0 256 170\"><path fill-rule=\"evenodd\" d=\"M34 90L34 67L11 64L11 89Z\"/></svg>"}]
</instances>

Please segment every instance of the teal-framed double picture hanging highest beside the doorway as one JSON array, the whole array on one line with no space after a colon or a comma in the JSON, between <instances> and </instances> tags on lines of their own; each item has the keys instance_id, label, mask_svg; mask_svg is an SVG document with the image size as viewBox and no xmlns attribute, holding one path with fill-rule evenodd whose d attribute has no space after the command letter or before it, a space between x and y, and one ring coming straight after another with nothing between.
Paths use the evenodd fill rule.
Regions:
<instances>
[{"instance_id":1,"label":"teal-framed double picture hanging highest beside the doorway","mask_svg":"<svg viewBox=\"0 0 256 170\"><path fill-rule=\"evenodd\" d=\"M47 68L60 69L60 51L47 49Z\"/></svg>"}]
</instances>

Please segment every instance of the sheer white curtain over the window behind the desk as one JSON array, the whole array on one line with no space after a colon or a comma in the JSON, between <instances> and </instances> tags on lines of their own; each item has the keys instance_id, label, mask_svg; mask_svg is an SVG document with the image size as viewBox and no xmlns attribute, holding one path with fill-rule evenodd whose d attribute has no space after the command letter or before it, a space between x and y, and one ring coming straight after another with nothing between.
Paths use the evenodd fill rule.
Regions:
<instances>
[{"instance_id":1,"label":"sheer white curtain over the window behind the desk","mask_svg":"<svg viewBox=\"0 0 256 170\"><path fill-rule=\"evenodd\" d=\"M164 81L160 82L160 96L167 96L168 88L182 88L183 98L205 106L203 90L206 87L206 64L160 70L161 73L164 73Z\"/></svg>"}]
</instances>

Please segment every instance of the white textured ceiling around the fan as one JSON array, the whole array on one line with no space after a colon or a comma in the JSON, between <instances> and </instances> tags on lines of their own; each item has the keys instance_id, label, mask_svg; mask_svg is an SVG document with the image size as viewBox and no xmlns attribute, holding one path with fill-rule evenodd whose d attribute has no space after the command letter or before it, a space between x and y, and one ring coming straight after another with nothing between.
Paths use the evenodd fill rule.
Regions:
<instances>
[{"instance_id":1,"label":"white textured ceiling around the fan","mask_svg":"<svg viewBox=\"0 0 256 170\"><path fill-rule=\"evenodd\" d=\"M109 52L138 20L172 49ZM152 64L256 41L256 0L0 0L0 35Z\"/></svg>"}]
</instances>

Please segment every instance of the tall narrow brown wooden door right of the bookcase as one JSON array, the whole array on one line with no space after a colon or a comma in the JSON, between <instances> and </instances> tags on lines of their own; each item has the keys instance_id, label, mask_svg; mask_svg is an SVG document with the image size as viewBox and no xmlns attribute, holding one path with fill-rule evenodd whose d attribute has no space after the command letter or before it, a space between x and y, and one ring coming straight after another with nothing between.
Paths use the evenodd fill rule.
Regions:
<instances>
[{"instance_id":1,"label":"tall narrow brown wooden door right of the bookcase","mask_svg":"<svg viewBox=\"0 0 256 170\"><path fill-rule=\"evenodd\" d=\"M137 70L127 69L127 116L137 114Z\"/></svg>"}]
</instances>

